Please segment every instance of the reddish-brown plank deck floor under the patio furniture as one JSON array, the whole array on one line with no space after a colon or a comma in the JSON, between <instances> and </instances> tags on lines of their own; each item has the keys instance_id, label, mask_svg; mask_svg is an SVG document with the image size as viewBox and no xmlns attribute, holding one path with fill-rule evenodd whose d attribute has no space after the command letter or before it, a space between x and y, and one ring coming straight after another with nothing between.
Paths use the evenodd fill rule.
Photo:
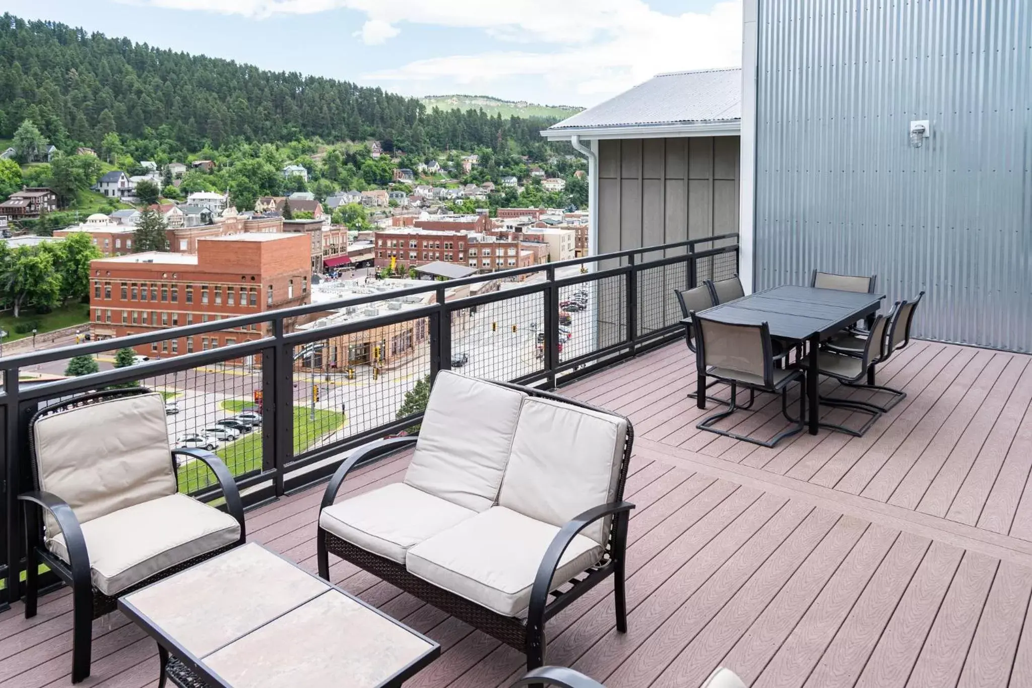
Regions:
<instances>
[{"instance_id":1,"label":"reddish-brown plank deck floor under the patio furniture","mask_svg":"<svg viewBox=\"0 0 1032 688\"><path fill-rule=\"evenodd\" d=\"M683 345L563 389L627 414L630 630L603 585L549 624L548 661L607 686L699 686L717 665L755 687L1032 686L1032 357L913 342L879 373L908 396L860 438L823 430L768 450L695 428ZM767 397L734 417L774 434ZM842 412L831 422L856 422ZM730 427L731 425L729 425ZM363 469L354 494L401 479ZM315 569L321 490L248 515L251 538ZM332 578L439 641L413 686L507 686L521 656L336 561ZM184 600L185 604L189 600ZM70 599L0 615L0 688L69 684ZM83 685L155 684L153 642L94 626ZM346 680L342 685L347 685Z\"/></svg>"}]
</instances>

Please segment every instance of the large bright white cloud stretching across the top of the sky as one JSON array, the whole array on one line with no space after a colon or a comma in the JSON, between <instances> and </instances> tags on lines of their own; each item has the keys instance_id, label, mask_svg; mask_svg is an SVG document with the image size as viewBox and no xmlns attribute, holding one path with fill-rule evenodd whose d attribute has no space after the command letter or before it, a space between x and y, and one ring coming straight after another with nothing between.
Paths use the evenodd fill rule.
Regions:
<instances>
[{"instance_id":1,"label":"large bright white cloud stretching across the top of the sky","mask_svg":"<svg viewBox=\"0 0 1032 688\"><path fill-rule=\"evenodd\" d=\"M395 37L399 22L477 30L498 44L477 54L459 48L361 77L412 95L461 87L466 93L590 105L658 72L741 62L741 0L681 14L654 10L645 0L125 1L254 19L347 8L364 14L355 35L366 44ZM522 81L520 92L510 92L517 81Z\"/></svg>"}]
</instances>

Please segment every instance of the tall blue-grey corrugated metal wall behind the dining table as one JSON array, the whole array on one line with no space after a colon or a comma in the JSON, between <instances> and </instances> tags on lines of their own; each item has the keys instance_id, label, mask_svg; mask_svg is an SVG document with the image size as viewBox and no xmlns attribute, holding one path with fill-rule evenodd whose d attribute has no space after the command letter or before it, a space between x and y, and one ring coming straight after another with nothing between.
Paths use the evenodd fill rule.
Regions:
<instances>
[{"instance_id":1,"label":"tall blue-grey corrugated metal wall behind the dining table","mask_svg":"<svg viewBox=\"0 0 1032 688\"><path fill-rule=\"evenodd\" d=\"M876 273L917 336L1032 350L1032 2L759 4L757 288Z\"/></svg>"}]
</instances>

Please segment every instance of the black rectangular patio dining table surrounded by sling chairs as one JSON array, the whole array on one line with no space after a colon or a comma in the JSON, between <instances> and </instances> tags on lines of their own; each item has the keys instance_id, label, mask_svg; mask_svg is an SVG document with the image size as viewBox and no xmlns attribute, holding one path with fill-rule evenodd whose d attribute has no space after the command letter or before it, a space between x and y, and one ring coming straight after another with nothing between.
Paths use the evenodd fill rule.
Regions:
<instances>
[{"instance_id":1,"label":"black rectangular patio dining table surrounded by sling chairs","mask_svg":"<svg viewBox=\"0 0 1032 688\"><path fill-rule=\"evenodd\" d=\"M815 371L820 342L843 327L873 316L884 297L884 294L782 286L721 303L701 312L700 315L734 324L767 323L772 337L808 346L807 420L810 434L817 434L820 425L817 393L819 375ZM698 384L700 390L706 387L705 373L699 373ZM700 394L697 403L700 408L705 408L706 395Z\"/></svg>"}]
</instances>

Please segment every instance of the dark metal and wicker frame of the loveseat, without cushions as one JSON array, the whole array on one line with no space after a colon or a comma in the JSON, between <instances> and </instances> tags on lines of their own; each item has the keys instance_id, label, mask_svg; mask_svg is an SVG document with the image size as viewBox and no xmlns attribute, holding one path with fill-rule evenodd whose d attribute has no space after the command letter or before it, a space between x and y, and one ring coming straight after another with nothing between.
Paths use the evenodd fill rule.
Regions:
<instances>
[{"instance_id":1,"label":"dark metal and wicker frame of the loveseat, without cushions","mask_svg":"<svg viewBox=\"0 0 1032 688\"><path fill-rule=\"evenodd\" d=\"M492 384L519 390L529 396L552 399L573 406L618 416L618 414L613 414L610 411L530 387L507 383ZM323 579L329 580L328 554L332 553L345 561L360 566L391 585L432 604L442 612L446 612L471 626L482 630L491 637L520 650L526 655L527 669L536 669L545 663L545 623L575 599L610 576L614 579L616 628L621 633L626 632L627 613L624 571L627 522L634 504L623 501L623 487L626 482L627 465L631 461L631 451L634 445L634 428L630 420L625 418L624 420L627 423L627 433L624 440L614 500L608 504L600 504L587 510L565 524L559 529L559 532L556 533L538 567L538 572L530 589L530 601L526 612L526 619L498 614L481 607L477 602L439 588L432 583L428 583L410 574L404 564L363 550L324 530L321 526L318 529L316 537L319 575ZM417 439L418 435L392 437L372 443L354 452L347 461L341 464L336 472L333 473L329 485L326 486L320 509L326 509L333 503L344 480L357 465L367 463L407 447L412 447L416 444ZM559 559L574 536L591 523L607 517L612 518L612 523L609 530L609 538L600 561L578 577L568 581L560 589L550 592L553 587L552 578L559 565Z\"/></svg>"}]
</instances>

